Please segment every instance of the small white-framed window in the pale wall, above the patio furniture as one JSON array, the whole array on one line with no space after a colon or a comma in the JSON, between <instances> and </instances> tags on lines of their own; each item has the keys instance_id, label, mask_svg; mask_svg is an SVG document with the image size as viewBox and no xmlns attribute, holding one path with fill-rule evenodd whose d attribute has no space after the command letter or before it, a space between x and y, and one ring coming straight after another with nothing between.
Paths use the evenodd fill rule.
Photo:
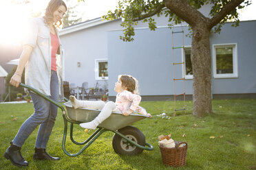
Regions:
<instances>
[{"instance_id":1,"label":"small white-framed window in the pale wall, above the patio furniture","mask_svg":"<svg viewBox=\"0 0 256 170\"><path fill-rule=\"evenodd\" d=\"M108 80L109 75L107 72L107 59L95 60L95 79Z\"/></svg>"}]
</instances>

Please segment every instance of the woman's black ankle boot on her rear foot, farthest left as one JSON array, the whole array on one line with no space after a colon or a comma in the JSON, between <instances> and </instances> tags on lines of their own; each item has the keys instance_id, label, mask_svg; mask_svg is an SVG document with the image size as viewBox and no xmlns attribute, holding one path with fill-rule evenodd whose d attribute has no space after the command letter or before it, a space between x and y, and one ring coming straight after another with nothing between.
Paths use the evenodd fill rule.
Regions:
<instances>
[{"instance_id":1,"label":"woman's black ankle boot on her rear foot, farthest left","mask_svg":"<svg viewBox=\"0 0 256 170\"><path fill-rule=\"evenodd\" d=\"M17 147L10 142L10 147L6 149L3 156L12 162L12 165L23 167L28 166L28 162L21 156L21 147Z\"/></svg>"}]
</instances>

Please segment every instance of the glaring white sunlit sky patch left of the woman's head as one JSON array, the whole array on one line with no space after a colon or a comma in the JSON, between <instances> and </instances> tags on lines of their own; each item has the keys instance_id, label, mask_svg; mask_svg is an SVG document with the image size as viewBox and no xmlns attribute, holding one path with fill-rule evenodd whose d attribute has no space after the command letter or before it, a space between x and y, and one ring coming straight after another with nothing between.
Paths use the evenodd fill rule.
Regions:
<instances>
[{"instance_id":1,"label":"glaring white sunlit sky patch left of the woman's head","mask_svg":"<svg viewBox=\"0 0 256 170\"><path fill-rule=\"evenodd\" d=\"M32 16L40 15L45 3L32 1L31 3L15 3L2 1L0 5L1 26L0 43L5 45L20 45L26 31L26 23ZM41 11L41 13L38 13Z\"/></svg>"}]
</instances>

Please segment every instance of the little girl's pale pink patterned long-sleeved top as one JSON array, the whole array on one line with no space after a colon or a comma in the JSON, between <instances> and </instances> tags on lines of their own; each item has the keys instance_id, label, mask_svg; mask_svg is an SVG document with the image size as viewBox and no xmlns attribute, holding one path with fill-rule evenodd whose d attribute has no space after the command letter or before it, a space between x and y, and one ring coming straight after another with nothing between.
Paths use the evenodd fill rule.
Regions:
<instances>
[{"instance_id":1,"label":"little girl's pale pink patterned long-sleeved top","mask_svg":"<svg viewBox=\"0 0 256 170\"><path fill-rule=\"evenodd\" d=\"M127 90L122 90L116 95L116 108L121 112L131 109L140 114L146 115L147 111L138 106L140 104L140 100L141 97L139 95L135 95Z\"/></svg>"}]
</instances>

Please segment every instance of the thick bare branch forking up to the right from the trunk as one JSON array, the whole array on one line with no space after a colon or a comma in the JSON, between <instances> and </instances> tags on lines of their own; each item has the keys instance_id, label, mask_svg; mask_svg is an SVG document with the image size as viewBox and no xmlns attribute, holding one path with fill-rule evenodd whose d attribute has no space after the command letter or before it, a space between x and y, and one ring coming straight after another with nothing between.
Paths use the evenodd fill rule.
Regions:
<instances>
[{"instance_id":1,"label":"thick bare branch forking up to the right from the trunk","mask_svg":"<svg viewBox=\"0 0 256 170\"><path fill-rule=\"evenodd\" d=\"M234 10L238 5L240 5L244 0L233 0L230 3L226 4L224 6L224 8L222 8L222 10L220 12L218 12L217 14L215 14L215 16L213 16L213 18L210 19L209 23L208 23L208 27L209 29L211 29L212 27L214 27L215 25L217 25L217 23L220 23L220 21L222 21L222 19L224 19L224 17L229 14L232 10Z\"/></svg>"}]
</instances>

